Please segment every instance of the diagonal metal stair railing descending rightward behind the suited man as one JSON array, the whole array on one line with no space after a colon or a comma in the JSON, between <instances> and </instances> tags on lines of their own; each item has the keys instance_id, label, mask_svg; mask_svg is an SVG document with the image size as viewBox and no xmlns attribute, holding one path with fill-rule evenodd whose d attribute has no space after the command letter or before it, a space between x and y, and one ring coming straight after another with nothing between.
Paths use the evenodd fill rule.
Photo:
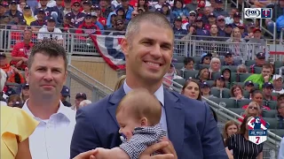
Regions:
<instances>
[{"instance_id":1,"label":"diagonal metal stair railing descending rightward behind the suited man","mask_svg":"<svg viewBox=\"0 0 284 159\"><path fill-rule=\"evenodd\" d=\"M174 90L178 93L181 92L181 88L183 86L181 86L179 83L177 83L174 80L171 80L171 79L168 79L168 78L165 78L165 77L164 77L164 79L166 79L167 81L170 80L172 82L172 84L177 86L177 87L174 87L173 85L170 85L167 82L163 82L163 84L166 87L170 87L171 90ZM225 107L217 104L216 102L210 101L209 99L207 99L203 96L202 96L202 100L209 103L209 106L217 113L218 118L221 119L222 121L226 122L227 120L233 120L233 121L241 124L240 121L238 120L238 118L241 117L240 115L234 113L231 110L226 109ZM276 155L278 155L278 151L279 151L279 148L280 148L280 141L281 141L280 136L272 133L271 131L268 131L267 141L264 142L265 147L268 148L268 149L265 150L265 156L269 156L268 154L270 153L271 150L274 150L274 153ZM269 158L269 157L267 157L267 158Z\"/></svg>"}]
</instances>

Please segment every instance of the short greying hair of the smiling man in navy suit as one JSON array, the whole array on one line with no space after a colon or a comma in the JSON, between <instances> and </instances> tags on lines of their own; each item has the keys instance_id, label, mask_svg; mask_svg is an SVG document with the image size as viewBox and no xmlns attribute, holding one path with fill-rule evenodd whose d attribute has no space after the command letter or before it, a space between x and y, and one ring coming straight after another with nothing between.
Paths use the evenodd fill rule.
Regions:
<instances>
[{"instance_id":1,"label":"short greying hair of the smiling man in navy suit","mask_svg":"<svg viewBox=\"0 0 284 159\"><path fill-rule=\"evenodd\" d=\"M158 27L169 28L170 32L174 34L173 29L170 26L170 21L166 19L162 13L156 11L145 11L130 20L125 34L125 37L129 40L129 42L132 42L134 36L138 34L140 30L139 26L142 22L149 22Z\"/></svg>"}]
</instances>

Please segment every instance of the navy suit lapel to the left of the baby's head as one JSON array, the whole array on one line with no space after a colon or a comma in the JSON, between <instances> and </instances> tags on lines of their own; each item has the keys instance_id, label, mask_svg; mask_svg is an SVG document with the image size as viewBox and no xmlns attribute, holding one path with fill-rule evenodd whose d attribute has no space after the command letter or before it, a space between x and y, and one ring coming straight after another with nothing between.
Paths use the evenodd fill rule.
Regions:
<instances>
[{"instance_id":1,"label":"navy suit lapel to the left of the baby's head","mask_svg":"<svg viewBox=\"0 0 284 159\"><path fill-rule=\"evenodd\" d=\"M110 105L107 107L107 110L111 117L114 119L116 125L119 127L117 121L116 121L116 116L115 116L115 110L118 106L118 103L121 102L123 96L125 95L123 87L120 87L117 91L114 92L113 95L110 96L108 102Z\"/></svg>"}]
</instances>

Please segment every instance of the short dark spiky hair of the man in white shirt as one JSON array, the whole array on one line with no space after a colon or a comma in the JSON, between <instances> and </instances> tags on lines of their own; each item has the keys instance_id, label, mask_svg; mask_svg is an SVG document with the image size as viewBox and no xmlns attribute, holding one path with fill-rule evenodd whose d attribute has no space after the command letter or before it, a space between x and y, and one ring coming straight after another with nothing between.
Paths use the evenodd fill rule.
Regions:
<instances>
[{"instance_id":1,"label":"short dark spiky hair of the man in white shirt","mask_svg":"<svg viewBox=\"0 0 284 159\"><path fill-rule=\"evenodd\" d=\"M43 42L36 43L31 50L30 57L28 57L28 69L30 69L34 62L34 57L38 53L48 57L62 57L65 70L67 70L67 54L65 49L59 43L51 40L43 40Z\"/></svg>"}]
</instances>

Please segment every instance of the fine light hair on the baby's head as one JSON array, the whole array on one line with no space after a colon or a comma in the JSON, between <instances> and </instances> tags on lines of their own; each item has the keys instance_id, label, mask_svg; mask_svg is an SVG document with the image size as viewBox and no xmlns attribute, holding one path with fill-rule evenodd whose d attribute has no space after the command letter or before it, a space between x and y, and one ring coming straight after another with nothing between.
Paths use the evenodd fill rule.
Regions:
<instances>
[{"instance_id":1,"label":"fine light hair on the baby's head","mask_svg":"<svg viewBox=\"0 0 284 159\"><path fill-rule=\"evenodd\" d=\"M132 117L146 117L148 125L157 125L162 116L162 105L158 99L145 88L131 90L118 104L115 114L128 110Z\"/></svg>"}]
</instances>

